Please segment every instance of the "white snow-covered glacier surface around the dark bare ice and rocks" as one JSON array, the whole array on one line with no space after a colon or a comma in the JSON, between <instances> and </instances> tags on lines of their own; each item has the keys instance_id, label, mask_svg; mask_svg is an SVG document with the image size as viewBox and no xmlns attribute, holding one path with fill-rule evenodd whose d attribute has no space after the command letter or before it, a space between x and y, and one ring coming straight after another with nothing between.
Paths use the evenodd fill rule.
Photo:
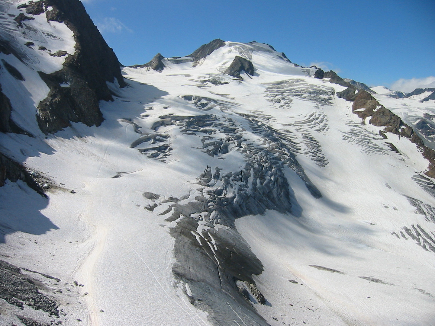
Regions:
<instances>
[{"instance_id":1,"label":"white snow-covered glacier surface around the dark bare ice and rocks","mask_svg":"<svg viewBox=\"0 0 435 326\"><path fill-rule=\"evenodd\" d=\"M253 62L253 77L222 74L235 55ZM227 196L249 193L255 176L234 176L254 171L258 155L281 162L291 195L291 213L235 220L264 265L254 280L268 304L252 304L270 325L434 324L435 198L414 144L382 139L335 96L345 87L264 44L227 42L194 68L165 65L124 68L129 86L110 85L115 101L100 103L99 128L75 123L46 140L0 135L15 159L59 187L50 200L32 196L31 207L27 186L0 188L2 253L84 284L89 313L70 325L211 325L189 302L195 289L173 276L169 230L183 218L174 207L222 186L208 170L230 176ZM375 97L406 123L435 107L407 111L412 99ZM212 248L201 212L188 218L199 221L198 243ZM231 224L209 219L214 229Z\"/></svg>"}]
</instances>

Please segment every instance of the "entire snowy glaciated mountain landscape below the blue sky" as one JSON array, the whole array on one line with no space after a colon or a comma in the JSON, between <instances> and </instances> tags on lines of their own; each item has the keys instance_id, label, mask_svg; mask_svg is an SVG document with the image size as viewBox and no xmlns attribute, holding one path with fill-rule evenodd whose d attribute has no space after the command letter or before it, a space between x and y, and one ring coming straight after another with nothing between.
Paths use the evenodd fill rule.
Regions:
<instances>
[{"instance_id":1,"label":"entire snowy glaciated mountain landscape below the blue sky","mask_svg":"<svg viewBox=\"0 0 435 326\"><path fill-rule=\"evenodd\" d=\"M432 89L255 41L121 69L78 0L0 19L2 325L435 323Z\"/></svg>"}]
</instances>

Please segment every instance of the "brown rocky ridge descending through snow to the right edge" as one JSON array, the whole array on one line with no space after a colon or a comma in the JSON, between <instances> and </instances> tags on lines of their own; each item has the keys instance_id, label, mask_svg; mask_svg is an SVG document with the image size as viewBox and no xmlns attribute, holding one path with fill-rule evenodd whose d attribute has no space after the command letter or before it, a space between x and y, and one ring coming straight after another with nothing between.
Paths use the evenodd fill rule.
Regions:
<instances>
[{"instance_id":1,"label":"brown rocky ridge descending through snow to the right edge","mask_svg":"<svg viewBox=\"0 0 435 326\"><path fill-rule=\"evenodd\" d=\"M345 91L351 93L354 90L347 89ZM389 132L406 137L411 140L412 143L415 143L423 157L429 161L428 170L425 172L425 174L431 178L435 178L435 151L428 146L425 146L423 140L412 130L412 127L403 123L400 117L386 109L365 90L360 90L353 100L351 99L352 96L348 96L347 98L343 96L343 98L353 101L352 110L361 119L371 117L369 123L374 126L385 127L384 132L380 132L384 138L387 138L385 133Z\"/></svg>"}]
</instances>

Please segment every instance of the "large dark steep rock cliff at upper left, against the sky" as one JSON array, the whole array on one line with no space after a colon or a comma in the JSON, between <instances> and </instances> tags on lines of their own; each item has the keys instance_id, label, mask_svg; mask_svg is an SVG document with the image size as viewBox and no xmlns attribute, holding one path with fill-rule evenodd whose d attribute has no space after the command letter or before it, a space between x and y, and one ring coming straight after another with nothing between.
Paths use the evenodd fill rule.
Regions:
<instances>
[{"instance_id":1,"label":"large dark steep rock cliff at upper left, against the sky","mask_svg":"<svg viewBox=\"0 0 435 326\"><path fill-rule=\"evenodd\" d=\"M65 23L73 31L76 46L62 70L50 75L40 73L50 88L47 98L38 106L40 129L54 133L70 126L70 121L99 126L103 115L98 101L113 100L106 82L117 81L125 86L120 63L79 0L45 0L43 5L53 8L45 12L48 21Z\"/></svg>"}]
</instances>

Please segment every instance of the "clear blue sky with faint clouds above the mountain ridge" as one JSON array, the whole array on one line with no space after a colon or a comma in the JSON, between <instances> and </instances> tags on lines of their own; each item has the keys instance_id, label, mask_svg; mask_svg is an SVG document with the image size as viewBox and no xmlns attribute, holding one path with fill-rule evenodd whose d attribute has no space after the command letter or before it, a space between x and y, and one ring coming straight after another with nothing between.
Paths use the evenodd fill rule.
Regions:
<instances>
[{"instance_id":1,"label":"clear blue sky with faint clouds above the mountain ridge","mask_svg":"<svg viewBox=\"0 0 435 326\"><path fill-rule=\"evenodd\" d=\"M435 87L435 1L82 0L124 65L216 38L271 44L369 86Z\"/></svg>"}]
</instances>

